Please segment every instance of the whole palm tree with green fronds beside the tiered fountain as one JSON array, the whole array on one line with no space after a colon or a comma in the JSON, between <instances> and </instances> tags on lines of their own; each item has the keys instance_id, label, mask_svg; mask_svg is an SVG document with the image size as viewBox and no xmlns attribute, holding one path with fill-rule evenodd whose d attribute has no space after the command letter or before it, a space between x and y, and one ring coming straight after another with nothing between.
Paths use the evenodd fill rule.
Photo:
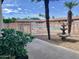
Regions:
<instances>
[{"instance_id":1,"label":"whole palm tree with green fronds beside the tiered fountain","mask_svg":"<svg viewBox=\"0 0 79 59\"><path fill-rule=\"evenodd\" d=\"M71 33L71 27L72 27L72 8L78 5L78 2L76 1L70 1L65 2L64 5L69 9L68 10L68 34Z\"/></svg>"}]
</instances>

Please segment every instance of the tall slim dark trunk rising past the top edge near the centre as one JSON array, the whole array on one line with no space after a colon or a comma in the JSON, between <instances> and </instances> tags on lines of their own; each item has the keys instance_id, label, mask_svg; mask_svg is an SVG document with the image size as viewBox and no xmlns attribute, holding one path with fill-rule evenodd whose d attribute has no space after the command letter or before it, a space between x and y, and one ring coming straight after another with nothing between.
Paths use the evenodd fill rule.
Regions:
<instances>
[{"instance_id":1,"label":"tall slim dark trunk rising past the top edge near the centre","mask_svg":"<svg viewBox=\"0 0 79 59\"><path fill-rule=\"evenodd\" d=\"M44 0L45 4L45 18L46 18L46 25L47 25L47 32L48 32L48 39L50 40L50 24L49 24L49 0Z\"/></svg>"}]
</instances>

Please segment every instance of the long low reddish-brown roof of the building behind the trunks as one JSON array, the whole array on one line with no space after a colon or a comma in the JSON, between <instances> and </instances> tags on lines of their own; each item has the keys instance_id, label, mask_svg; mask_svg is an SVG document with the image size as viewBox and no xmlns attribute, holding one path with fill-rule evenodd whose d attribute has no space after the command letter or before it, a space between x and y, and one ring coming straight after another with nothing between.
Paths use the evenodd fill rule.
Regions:
<instances>
[{"instance_id":1,"label":"long low reddish-brown roof of the building behind the trunks","mask_svg":"<svg viewBox=\"0 0 79 59\"><path fill-rule=\"evenodd\" d=\"M79 16L73 16L73 20L79 20ZM67 21L67 17L62 17L62 18L54 18L50 19L50 22L57 22L57 21ZM16 22L46 22L46 20L41 19L41 20L17 20Z\"/></svg>"}]
</instances>

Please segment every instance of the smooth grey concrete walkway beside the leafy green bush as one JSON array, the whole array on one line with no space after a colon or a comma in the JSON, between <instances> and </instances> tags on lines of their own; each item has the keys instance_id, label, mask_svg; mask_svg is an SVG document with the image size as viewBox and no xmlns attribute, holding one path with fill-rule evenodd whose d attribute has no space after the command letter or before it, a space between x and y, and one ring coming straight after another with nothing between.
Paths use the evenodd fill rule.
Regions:
<instances>
[{"instance_id":1,"label":"smooth grey concrete walkway beside the leafy green bush","mask_svg":"<svg viewBox=\"0 0 79 59\"><path fill-rule=\"evenodd\" d=\"M39 39L28 44L29 59L79 59L79 53Z\"/></svg>"}]
</instances>

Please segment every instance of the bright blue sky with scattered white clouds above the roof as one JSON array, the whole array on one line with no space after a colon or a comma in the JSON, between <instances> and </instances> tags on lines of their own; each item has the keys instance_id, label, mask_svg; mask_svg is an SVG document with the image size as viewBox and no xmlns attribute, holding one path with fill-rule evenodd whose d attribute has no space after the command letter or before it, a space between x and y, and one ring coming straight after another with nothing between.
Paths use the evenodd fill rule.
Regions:
<instances>
[{"instance_id":1,"label":"bright blue sky with scattered white clouds above the roof","mask_svg":"<svg viewBox=\"0 0 79 59\"><path fill-rule=\"evenodd\" d=\"M50 2L50 17L65 17L68 9L64 7L64 2L70 0L60 0ZM77 0L79 2L79 0ZM79 6L73 8L74 16L79 15ZM3 3L3 16L6 18L16 17L39 17L39 14L44 14L43 1L36 3L31 0L5 0Z\"/></svg>"}]
</instances>

